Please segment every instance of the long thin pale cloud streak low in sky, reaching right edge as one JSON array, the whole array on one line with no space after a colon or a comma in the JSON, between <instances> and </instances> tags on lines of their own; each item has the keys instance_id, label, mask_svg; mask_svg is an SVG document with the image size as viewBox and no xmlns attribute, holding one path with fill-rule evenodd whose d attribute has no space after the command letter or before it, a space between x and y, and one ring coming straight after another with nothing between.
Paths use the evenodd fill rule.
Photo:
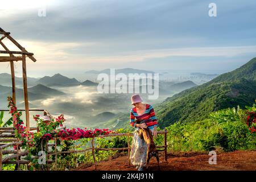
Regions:
<instances>
[{"instance_id":1,"label":"long thin pale cloud streak low in sky, reaching right edge","mask_svg":"<svg viewBox=\"0 0 256 182\"><path fill-rule=\"evenodd\" d=\"M126 52L122 55L113 56L85 56L84 59L81 58L80 61L77 60L75 63L129 63L131 61L146 61L148 59L159 59L169 56L233 57L245 53L256 53L256 46L151 49L145 51Z\"/></svg>"}]
</instances>

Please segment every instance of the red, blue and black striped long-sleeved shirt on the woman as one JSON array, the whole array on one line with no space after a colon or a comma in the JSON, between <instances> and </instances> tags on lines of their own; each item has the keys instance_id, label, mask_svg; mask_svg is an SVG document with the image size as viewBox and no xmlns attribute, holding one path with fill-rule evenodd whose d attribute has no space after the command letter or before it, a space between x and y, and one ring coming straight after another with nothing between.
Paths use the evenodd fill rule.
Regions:
<instances>
[{"instance_id":1,"label":"red, blue and black striped long-sleeved shirt on the woman","mask_svg":"<svg viewBox=\"0 0 256 182\"><path fill-rule=\"evenodd\" d=\"M158 126L158 121L155 116L155 111L153 106L146 104L146 111L142 115L137 114L136 107L131 108L130 113L130 125L135 127L135 118L139 121L144 121L148 129L153 130L154 126ZM138 130L138 128L137 128Z\"/></svg>"}]
</instances>

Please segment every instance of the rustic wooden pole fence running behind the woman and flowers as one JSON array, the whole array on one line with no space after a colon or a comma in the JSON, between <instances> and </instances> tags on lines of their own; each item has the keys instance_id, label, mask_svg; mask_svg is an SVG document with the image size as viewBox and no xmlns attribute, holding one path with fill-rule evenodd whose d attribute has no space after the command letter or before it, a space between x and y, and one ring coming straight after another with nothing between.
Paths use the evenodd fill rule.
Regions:
<instances>
[{"instance_id":1,"label":"rustic wooden pole fence running behind the woman and flowers","mask_svg":"<svg viewBox=\"0 0 256 182\"><path fill-rule=\"evenodd\" d=\"M156 146L157 148L163 148L162 150L158 150L158 151L163 151L164 152L164 160L167 161L167 133L168 131L166 129L164 129L163 131L158 131L158 134L164 134L164 143L163 146ZM95 147L94 144L94 140L95 138L105 138L105 137L121 137L121 136L126 136L127 137L127 147L123 147L123 148L100 148L100 147ZM98 137L93 137L91 144L92 146L89 148L85 148L84 150L71 150L71 151L57 151L57 138L54 139L54 143L48 143L47 147L46 147L46 152L47 152L47 159L46 162L47 164L49 163L53 163L52 160L49 160L49 156L51 155L55 155L55 170L57 170L57 155L60 154L71 154L71 153L80 153L80 152L85 152L85 151L92 151L92 155L93 155L93 162L94 162L94 166L95 168L97 167L97 161L96 161L96 156L95 156L95 151L99 151L99 150L104 150L104 151L109 151L109 150L127 150L128 151L128 165L130 166L130 137L132 137L133 134L131 133L120 133L120 134L108 134L108 135L100 135ZM32 142L32 141L28 141L28 142ZM19 157L22 155L26 155L27 151L19 151L19 145L21 144L21 142L12 142L12 143L8 143L5 144L3 146L0 146L0 170L2 169L2 164L28 164L29 161L28 160L19 160ZM17 146L16 150L3 150L6 147L10 147L10 146ZM55 150L54 152L49 152L48 151L48 147L49 146L55 146ZM3 159L3 155L6 154L14 154L11 156L7 156L5 159ZM17 159L16 161L10 161L10 159ZM38 156L35 156L35 158L39 158Z\"/></svg>"}]
</instances>

